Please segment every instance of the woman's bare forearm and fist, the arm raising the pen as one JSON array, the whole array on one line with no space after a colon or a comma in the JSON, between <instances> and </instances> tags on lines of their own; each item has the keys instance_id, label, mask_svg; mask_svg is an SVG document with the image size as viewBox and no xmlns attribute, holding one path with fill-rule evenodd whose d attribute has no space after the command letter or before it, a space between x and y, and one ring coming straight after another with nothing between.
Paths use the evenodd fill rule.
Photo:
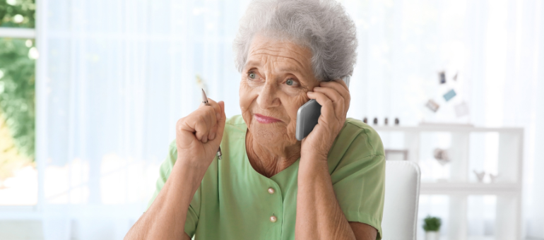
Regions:
<instances>
[{"instance_id":1,"label":"woman's bare forearm and fist, the arm raising the pen","mask_svg":"<svg viewBox=\"0 0 544 240\"><path fill-rule=\"evenodd\" d=\"M184 232L194 194L223 138L225 103L201 104L176 123L177 161L164 186L125 239L190 239ZM182 227L179 227L182 226Z\"/></svg>"}]
</instances>

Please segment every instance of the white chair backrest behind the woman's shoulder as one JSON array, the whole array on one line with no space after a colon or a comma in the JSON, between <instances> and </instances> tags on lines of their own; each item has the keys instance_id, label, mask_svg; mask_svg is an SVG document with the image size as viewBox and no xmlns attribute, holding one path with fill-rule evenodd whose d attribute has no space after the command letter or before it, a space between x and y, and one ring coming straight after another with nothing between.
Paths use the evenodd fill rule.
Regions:
<instances>
[{"instance_id":1,"label":"white chair backrest behind the woman's shoulder","mask_svg":"<svg viewBox=\"0 0 544 240\"><path fill-rule=\"evenodd\" d=\"M386 161L382 232L384 240L415 239L420 168L410 161Z\"/></svg>"}]
</instances>

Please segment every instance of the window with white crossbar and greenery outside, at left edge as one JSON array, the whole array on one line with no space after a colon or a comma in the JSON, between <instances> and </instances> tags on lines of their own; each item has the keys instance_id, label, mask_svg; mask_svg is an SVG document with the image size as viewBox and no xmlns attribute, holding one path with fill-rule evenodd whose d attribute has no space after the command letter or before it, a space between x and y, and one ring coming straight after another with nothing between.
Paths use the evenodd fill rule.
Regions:
<instances>
[{"instance_id":1,"label":"window with white crossbar and greenery outside, at left edge","mask_svg":"<svg viewBox=\"0 0 544 240\"><path fill-rule=\"evenodd\" d=\"M35 0L0 1L0 205L36 205Z\"/></svg>"}]
</instances>

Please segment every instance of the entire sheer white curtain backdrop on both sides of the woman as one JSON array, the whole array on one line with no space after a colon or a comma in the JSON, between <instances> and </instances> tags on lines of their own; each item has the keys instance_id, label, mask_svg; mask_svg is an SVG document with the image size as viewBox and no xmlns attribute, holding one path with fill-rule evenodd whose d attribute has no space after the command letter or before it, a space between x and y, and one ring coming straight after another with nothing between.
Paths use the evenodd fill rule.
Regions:
<instances>
[{"instance_id":1,"label":"entire sheer white curtain backdrop on both sides of the woman","mask_svg":"<svg viewBox=\"0 0 544 240\"><path fill-rule=\"evenodd\" d=\"M341 2L360 41L349 115L524 126L527 233L544 236L537 188L544 177L535 174L544 171L543 1ZM121 239L153 191L175 121L198 106L199 88L224 100L227 116L240 113L231 43L246 6L39 2L37 162L46 239ZM448 87L437 85L439 71ZM423 107L448 88L457 96L440 102L443 111ZM462 102L470 114L456 117Z\"/></svg>"}]
</instances>

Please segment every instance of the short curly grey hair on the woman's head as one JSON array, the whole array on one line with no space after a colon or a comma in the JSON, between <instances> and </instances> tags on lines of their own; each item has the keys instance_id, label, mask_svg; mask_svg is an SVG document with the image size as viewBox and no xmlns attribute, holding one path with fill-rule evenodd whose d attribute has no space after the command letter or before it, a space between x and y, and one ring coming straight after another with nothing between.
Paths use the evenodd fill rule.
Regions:
<instances>
[{"instance_id":1,"label":"short curly grey hair on the woman's head","mask_svg":"<svg viewBox=\"0 0 544 240\"><path fill-rule=\"evenodd\" d=\"M254 0L240 19L232 49L240 73L257 33L312 50L314 76L321 81L352 75L357 61L355 23L335 0Z\"/></svg>"}]
</instances>

